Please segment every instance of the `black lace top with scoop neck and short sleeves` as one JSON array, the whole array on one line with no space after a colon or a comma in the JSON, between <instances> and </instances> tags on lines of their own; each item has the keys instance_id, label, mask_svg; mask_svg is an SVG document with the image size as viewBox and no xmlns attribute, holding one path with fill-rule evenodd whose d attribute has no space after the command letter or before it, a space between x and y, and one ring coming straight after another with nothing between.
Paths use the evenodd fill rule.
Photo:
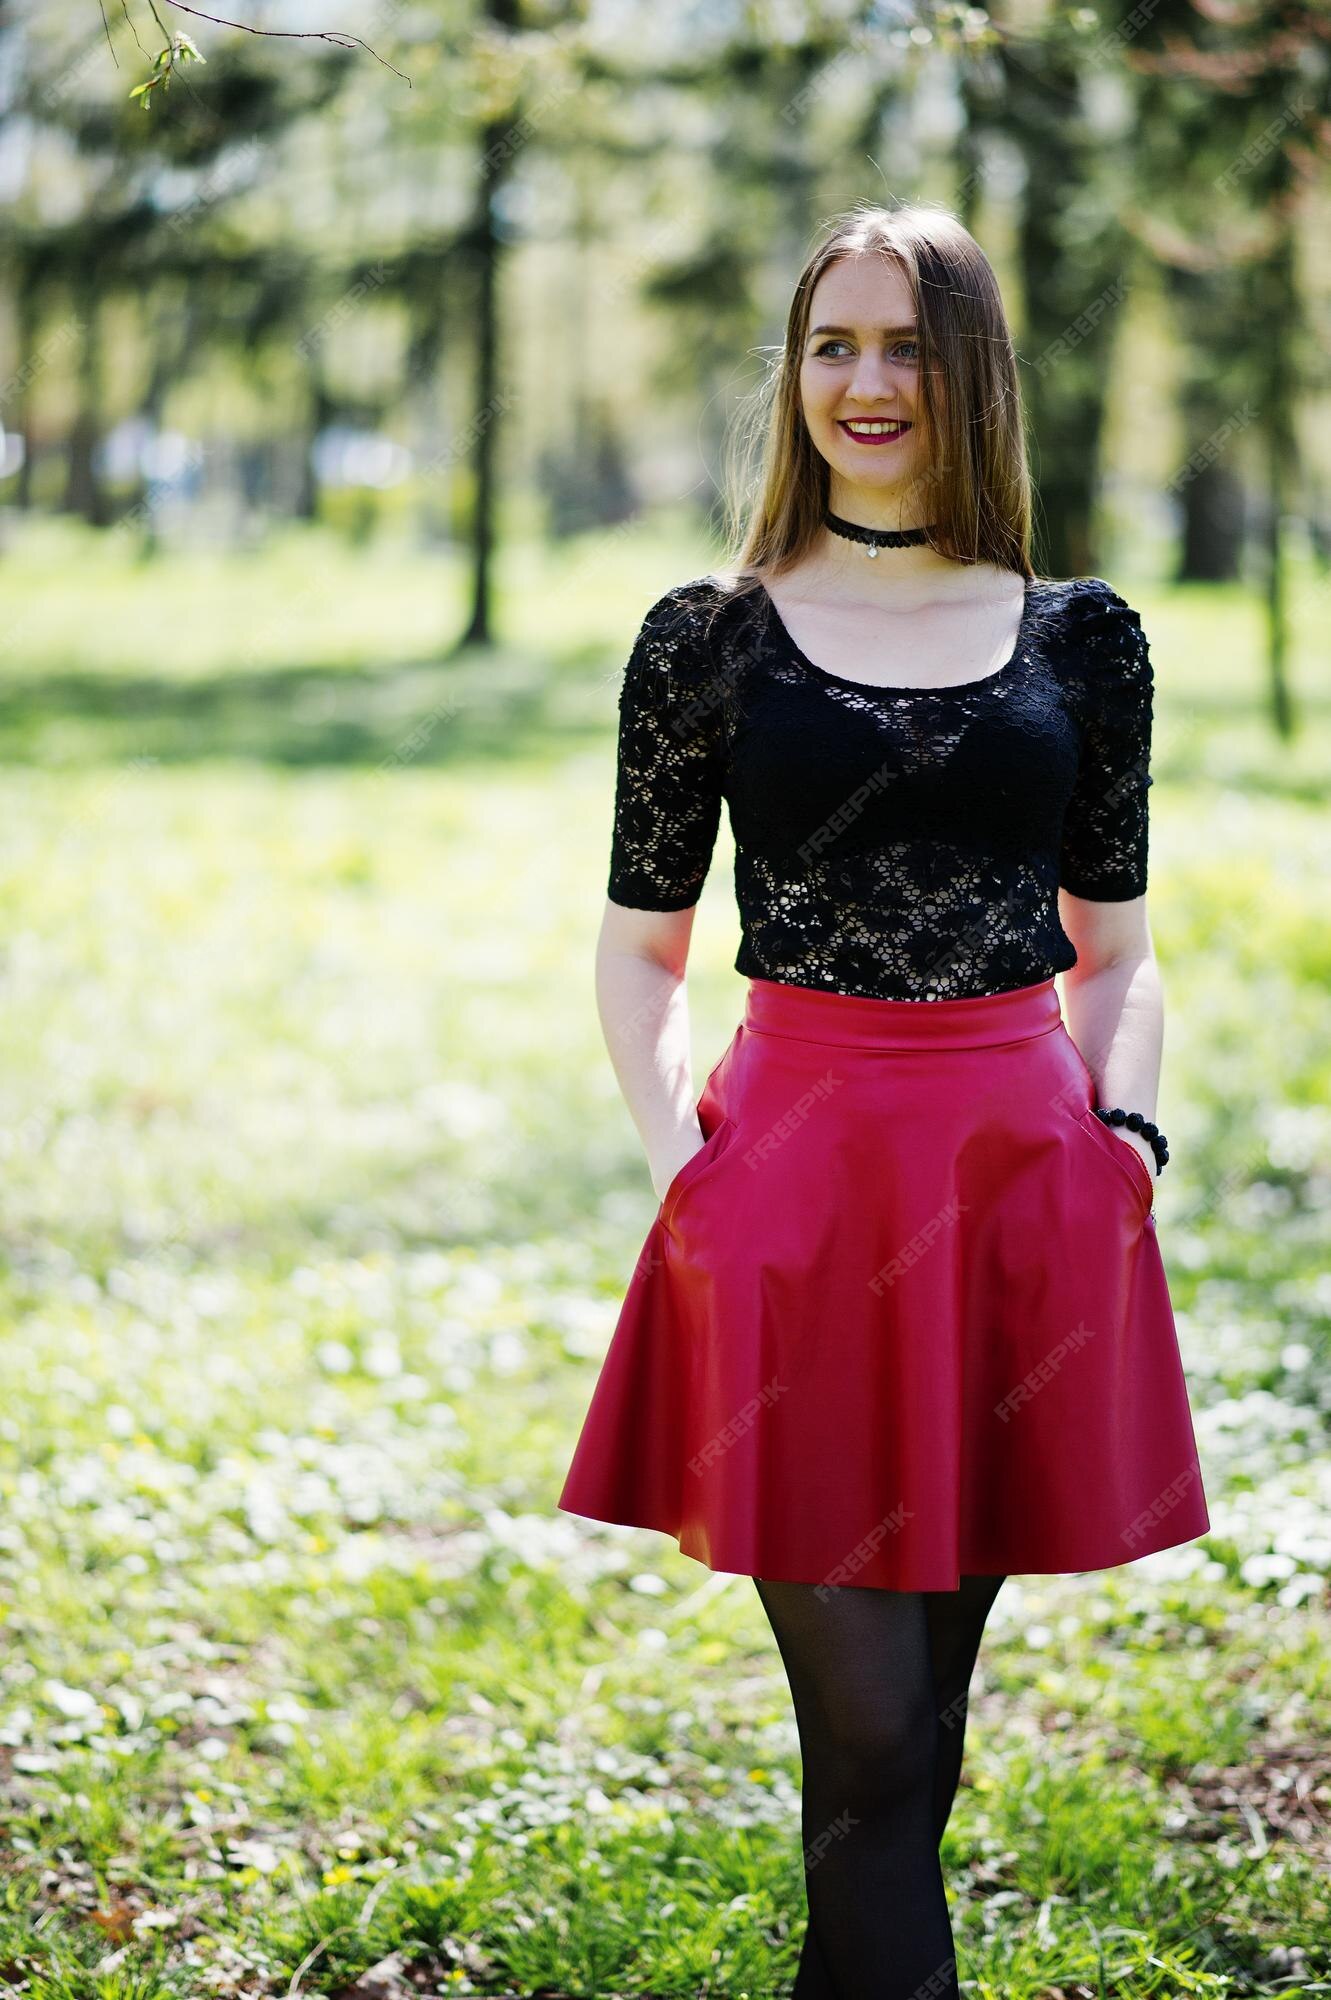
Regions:
<instances>
[{"instance_id":1,"label":"black lace top with scoop neck and short sleeves","mask_svg":"<svg viewBox=\"0 0 1331 2000\"><path fill-rule=\"evenodd\" d=\"M1097 576L1027 586L1005 666L881 688L813 666L765 590L677 584L624 672L608 894L687 910L729 808L735 970L895 1000L1077 962L1057 888L1147 886L1151 658Z\"/></svg>"}]
</instances>

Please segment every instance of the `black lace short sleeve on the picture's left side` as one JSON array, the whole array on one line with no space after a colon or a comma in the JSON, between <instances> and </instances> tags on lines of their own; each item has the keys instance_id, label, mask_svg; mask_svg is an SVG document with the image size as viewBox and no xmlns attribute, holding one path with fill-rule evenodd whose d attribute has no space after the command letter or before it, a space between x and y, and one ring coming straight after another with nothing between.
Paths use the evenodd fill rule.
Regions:
<instances>
[{"instance_id":1,"label":"black lace short sleeve on the picture's left side","mask_svg":"<svg viewBox=\"0 0 1331 2000\"><path fill-rule=\"evenodd\" d=\"M620 688L608 896L630 910L689 910L721 820L725 728L701 606L681 584L652 606Z\"/></svg>"}]
</instances>

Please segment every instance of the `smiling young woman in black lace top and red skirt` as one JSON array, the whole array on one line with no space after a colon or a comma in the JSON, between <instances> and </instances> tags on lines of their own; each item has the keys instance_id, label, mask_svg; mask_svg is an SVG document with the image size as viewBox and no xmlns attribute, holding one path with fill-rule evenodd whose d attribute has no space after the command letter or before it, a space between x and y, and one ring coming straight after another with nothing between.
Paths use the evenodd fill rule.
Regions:
<instances>
[{"instance_id":1,"label":"smiling young woman in black lace top and red skirt","mask_svg":"<svg viewBox=\"0 0 1331 2000\"><path fill-rule=\"evenodd\" d=\"M855 210L735 564L652 606L620 696L598 1008L662 1204L558 1504L755 1582L797 2000L957 1994L939 1840L1003 1578L1209 1528L1153 1214L1149 650L1029 526L989 262ZM747 986L693 1098L721 800Z\"/></svg>"}]
</instances>

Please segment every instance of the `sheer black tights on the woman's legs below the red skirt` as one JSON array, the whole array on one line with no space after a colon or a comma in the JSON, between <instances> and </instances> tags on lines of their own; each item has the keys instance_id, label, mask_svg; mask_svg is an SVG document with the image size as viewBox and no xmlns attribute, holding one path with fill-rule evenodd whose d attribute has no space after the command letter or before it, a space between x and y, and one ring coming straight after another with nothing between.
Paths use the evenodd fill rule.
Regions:
<instances>
[{"instance_id":1,"label":"sheer black tights on the woman's legs below the red skirt","mask_svg":"<svg viewBox=\"0 0 1331 2000\"><path fill-rule=\"evenodd\" d=\"M809 1926L791 2000L957 2000L939 1842L967 1688L1003 1582L753 1578L795 1704Z\"/></svg>"}]
</instances>

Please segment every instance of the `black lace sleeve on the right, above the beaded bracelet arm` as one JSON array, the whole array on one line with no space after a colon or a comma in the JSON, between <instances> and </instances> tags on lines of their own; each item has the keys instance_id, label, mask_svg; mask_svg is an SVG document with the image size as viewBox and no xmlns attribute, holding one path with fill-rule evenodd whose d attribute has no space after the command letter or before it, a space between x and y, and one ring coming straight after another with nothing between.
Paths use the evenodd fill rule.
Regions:
<instances>
[{"instance_id":1,"label":"black lace sleeve on the right, above the beaded bracelet arm","mask_svg":"<svg viewBox=\"0 0 1331 2000\"><path fill-rule=\"evenodd\" d=\"M1085 726L1063 816L1059 888L1093 902L1129 902L1147 886L1151 650L1137 612L1101 578L1073 596L1071 618Z\"/></svg>"}]
</instances>

